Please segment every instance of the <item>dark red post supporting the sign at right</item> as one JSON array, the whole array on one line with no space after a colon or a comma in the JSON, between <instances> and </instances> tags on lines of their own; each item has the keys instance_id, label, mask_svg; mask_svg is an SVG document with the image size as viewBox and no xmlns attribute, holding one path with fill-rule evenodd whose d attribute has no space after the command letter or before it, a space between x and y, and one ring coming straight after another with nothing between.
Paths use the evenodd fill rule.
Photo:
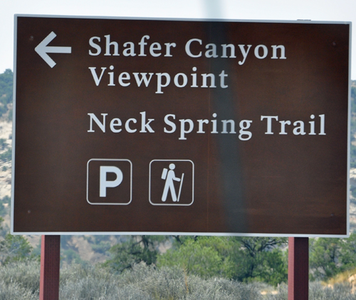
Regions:
<instances>
[{"instance_id":1,"label":"dark red post supporting the sign at right","mask_svg":"<svg viewBox=\"0 0 356 300\"><path fill-rule=\"evenodd\" d=\"M288 300L308 300L309 238L288 239Z\"/></svg>"}]
</instances>

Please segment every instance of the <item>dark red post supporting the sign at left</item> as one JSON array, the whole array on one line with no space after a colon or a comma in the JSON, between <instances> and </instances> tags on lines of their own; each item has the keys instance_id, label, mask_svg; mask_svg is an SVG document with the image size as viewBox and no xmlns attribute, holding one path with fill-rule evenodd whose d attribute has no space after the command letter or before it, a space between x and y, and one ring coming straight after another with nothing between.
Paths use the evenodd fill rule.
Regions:
<instances>
[{"instance_id":1,"label":"dark red post supporting the sign at left","mask_svg":"<svg viewBox=\"0 0 356 300\"><path fill-rule=\"evenodd\" d=\"M41 244L40 300L58 300L60 235L43 235Z\"/></svg>"}]
</instances>

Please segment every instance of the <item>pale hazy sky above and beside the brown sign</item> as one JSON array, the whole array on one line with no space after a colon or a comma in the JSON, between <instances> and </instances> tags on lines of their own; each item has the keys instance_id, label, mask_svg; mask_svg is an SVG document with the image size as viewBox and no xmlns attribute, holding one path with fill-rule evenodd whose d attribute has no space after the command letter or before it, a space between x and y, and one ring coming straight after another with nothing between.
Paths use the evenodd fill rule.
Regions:
<instances>
[{"instance_id":1,"label":"pale hazy sky above and beside the brown sign","mask_svg":"<svg viewBox=\"0 0 356 300\"><path fill-rule=\"evenodd\" d=\"M356 0L0 0L0 73L14 69L14 14L179 19L351 21ZM356 80L356 31L351 79Z\"/></svg>"}]
</instances>

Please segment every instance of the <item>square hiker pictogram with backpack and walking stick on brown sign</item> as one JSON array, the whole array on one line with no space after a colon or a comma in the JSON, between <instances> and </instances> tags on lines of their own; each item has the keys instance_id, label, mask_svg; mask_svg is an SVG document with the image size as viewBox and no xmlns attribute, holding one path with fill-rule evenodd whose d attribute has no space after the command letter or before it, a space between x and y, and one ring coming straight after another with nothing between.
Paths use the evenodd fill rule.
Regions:
<instances>
[{"instance_id":1,"label":"square hiker pictogram with backpack and walking stick on brown sign","mask_svg":"<svg viewBox=\"0 0 356 300\"><path fill-rule=\"evenodd\" d=\"M149 193L152 205L192 205L194 202L192 160L152 160Z\"/></svg>"}]
</instances>

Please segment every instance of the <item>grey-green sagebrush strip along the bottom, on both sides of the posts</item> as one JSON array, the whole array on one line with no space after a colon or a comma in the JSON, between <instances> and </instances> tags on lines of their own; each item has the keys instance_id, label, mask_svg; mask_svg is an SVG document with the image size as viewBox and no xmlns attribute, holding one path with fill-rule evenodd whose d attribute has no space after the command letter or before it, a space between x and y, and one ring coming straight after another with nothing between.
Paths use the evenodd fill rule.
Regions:
<instances>
[{"instance_id":1,"label":"grey-green sagebrush strip along the bottom, on both sides of the posts","mask_svg":"<svg viewBox=\"0 0 356 300\"><path fill-rule=\"evenodd\" d=\"M39 263L17 262L0 267L0 300L38 299ZM345 278L347 276L345 275ZM340 277L341 278L341 277ZM356 300L352 284L335 279L333 288L310 283L310 300ZM201 279L183 269L147 267L115 274L102 267L72 264L61 269L60 299L66 300L287 300L288 286L278 294L261 294L271 286L242 284L228 279Z\"/></svg>"}]
</instances>

